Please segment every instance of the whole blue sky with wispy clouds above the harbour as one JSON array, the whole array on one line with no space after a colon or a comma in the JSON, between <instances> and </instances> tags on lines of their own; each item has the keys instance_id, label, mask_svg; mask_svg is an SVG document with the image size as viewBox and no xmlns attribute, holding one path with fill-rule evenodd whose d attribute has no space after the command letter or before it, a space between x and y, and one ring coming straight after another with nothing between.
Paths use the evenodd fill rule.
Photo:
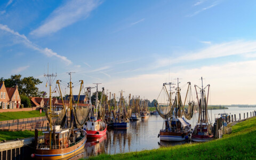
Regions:
<instances>
[{"instance_id":1,"label":"whole blue sky with wispy clouds above the harbour","mask_svg":"<svg viewBox=\"0 0 256 160\"><path fill-rule=\"evenodd\" d=\"M44 74L66 84L72 71L75 84L102 83L117 97L123 90L150 101L177 78L183 99L191 82L196 100L203 77L210 105L253 105L255 7L253 0L2 0L0 77L33 76L48 91Z\"/></svg>"}]
</instances>

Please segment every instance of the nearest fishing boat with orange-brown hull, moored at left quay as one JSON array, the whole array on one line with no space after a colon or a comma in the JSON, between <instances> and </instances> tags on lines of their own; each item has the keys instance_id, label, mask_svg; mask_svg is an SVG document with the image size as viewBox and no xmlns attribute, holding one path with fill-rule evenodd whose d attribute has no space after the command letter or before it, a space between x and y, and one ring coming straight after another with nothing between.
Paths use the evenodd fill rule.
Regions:
<instances>
[{"instance_id":1,"label":"nearest fishing boat with orange-brown hull, moored at left quay","mask_svg":"<svg viewBox=\"0 0 256 160\"><path fill-rule=\"evenodd\" d=\"M63 97L61 94L61 100L62 100L62 107L61 113L55 113L52 109L52 82L54 81L55 77L57 75L45 75L47 77L47 82L50 85L50 97L49 97L49 107L46 106L46 116L49 121L49 125L47 127L46 131L43 131L44 133L44 139L41 143L38 139L38 131L35 132L35 142L36 142L36 149L35 149L35 157L36 159L67 159L71 156L74 156L76 153L84 149L84 144L87 139L86 132L81 129L82 124L79 119L82 118L82 121L84 119L88 118L89 110L85 108L85 117L81 117L76 115L76 108L79 108L79 100L76 102L76 105L74 105L73 94L72 94L72 82L71 82L71 73L70 74L70 83L69 83L69 102L64 103ZM59 80L57 81L57 84L59 85L59 91L60 89L60 83ZM81 81L81 86L83 84L83 81ZM81 90L80 90L81 92ZM79 95L80 95L79 92ZM80 108L81 109L81 108ZM82 110L82 109L81 109ZM87 112L86 112L87 111Z\"/></svg>"}]
</instances>

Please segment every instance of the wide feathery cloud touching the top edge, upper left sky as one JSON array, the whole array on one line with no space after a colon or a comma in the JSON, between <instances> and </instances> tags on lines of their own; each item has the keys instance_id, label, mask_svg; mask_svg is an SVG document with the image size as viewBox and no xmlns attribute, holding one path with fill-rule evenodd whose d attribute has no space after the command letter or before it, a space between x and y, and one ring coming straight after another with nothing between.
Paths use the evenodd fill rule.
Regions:
<instances>
[{"instance_id":1,"label":"wide feathery cloud touching the top edge, upper left sky","mask_svg":"<svg viewBox=\"0 0 256 160\"><path fill-rule=\"evenodd\" d=\"M85 19L92 10L100 5L98 0L71 0L55 9L43 25L31 31L31 35L45 36Z\"/></svg>"}]
</instances>

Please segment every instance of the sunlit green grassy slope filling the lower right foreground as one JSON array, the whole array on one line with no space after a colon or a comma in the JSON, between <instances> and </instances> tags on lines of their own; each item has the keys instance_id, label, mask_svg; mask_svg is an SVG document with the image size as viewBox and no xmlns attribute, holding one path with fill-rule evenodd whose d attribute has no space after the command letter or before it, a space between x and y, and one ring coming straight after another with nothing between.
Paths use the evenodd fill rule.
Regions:
<instances>
[{"instance_id":1,"label":"sunlit green grassy slope filling the lower right foreground","mask_svg":"<svg viewBox=\"0 0 256 160\"><path fill-rule=\"evenodd\" d=\"M90 159L255 159L256 117L232 126L222 139Z\"/></svg>"}]
</instances>

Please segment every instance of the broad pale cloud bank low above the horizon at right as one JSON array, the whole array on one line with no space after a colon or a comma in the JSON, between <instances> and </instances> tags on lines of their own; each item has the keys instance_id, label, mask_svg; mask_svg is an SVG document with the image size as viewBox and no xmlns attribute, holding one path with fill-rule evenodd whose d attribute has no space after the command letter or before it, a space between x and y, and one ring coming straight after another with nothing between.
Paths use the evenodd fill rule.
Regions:
<instances>
[{"instance_id":1,"label":"broad pale cloud bank low above the horizon at right","mask_svg":"<svg viewBox=\"0 0 256 160\"><path fill-rule=\"evenodd\" d=\"M255 104L256 74L252 68L256 68L256 60L176 70L172 71L170 76L181 78L181 86L191 82L192 87L195 84L200 86L199 78L205 78L204 86L211 85L209 105ZM122 89L126 91L125 94L131 93L153 100L157 99L168 77L169 71L166 70L157 74L111 79L105 83L105 86L111 89L111 93L118 93ZM186 89L186 87L181 89L183 99ZM193 97L195 100L194 88Z\"/></svg>"}]
</instances>

